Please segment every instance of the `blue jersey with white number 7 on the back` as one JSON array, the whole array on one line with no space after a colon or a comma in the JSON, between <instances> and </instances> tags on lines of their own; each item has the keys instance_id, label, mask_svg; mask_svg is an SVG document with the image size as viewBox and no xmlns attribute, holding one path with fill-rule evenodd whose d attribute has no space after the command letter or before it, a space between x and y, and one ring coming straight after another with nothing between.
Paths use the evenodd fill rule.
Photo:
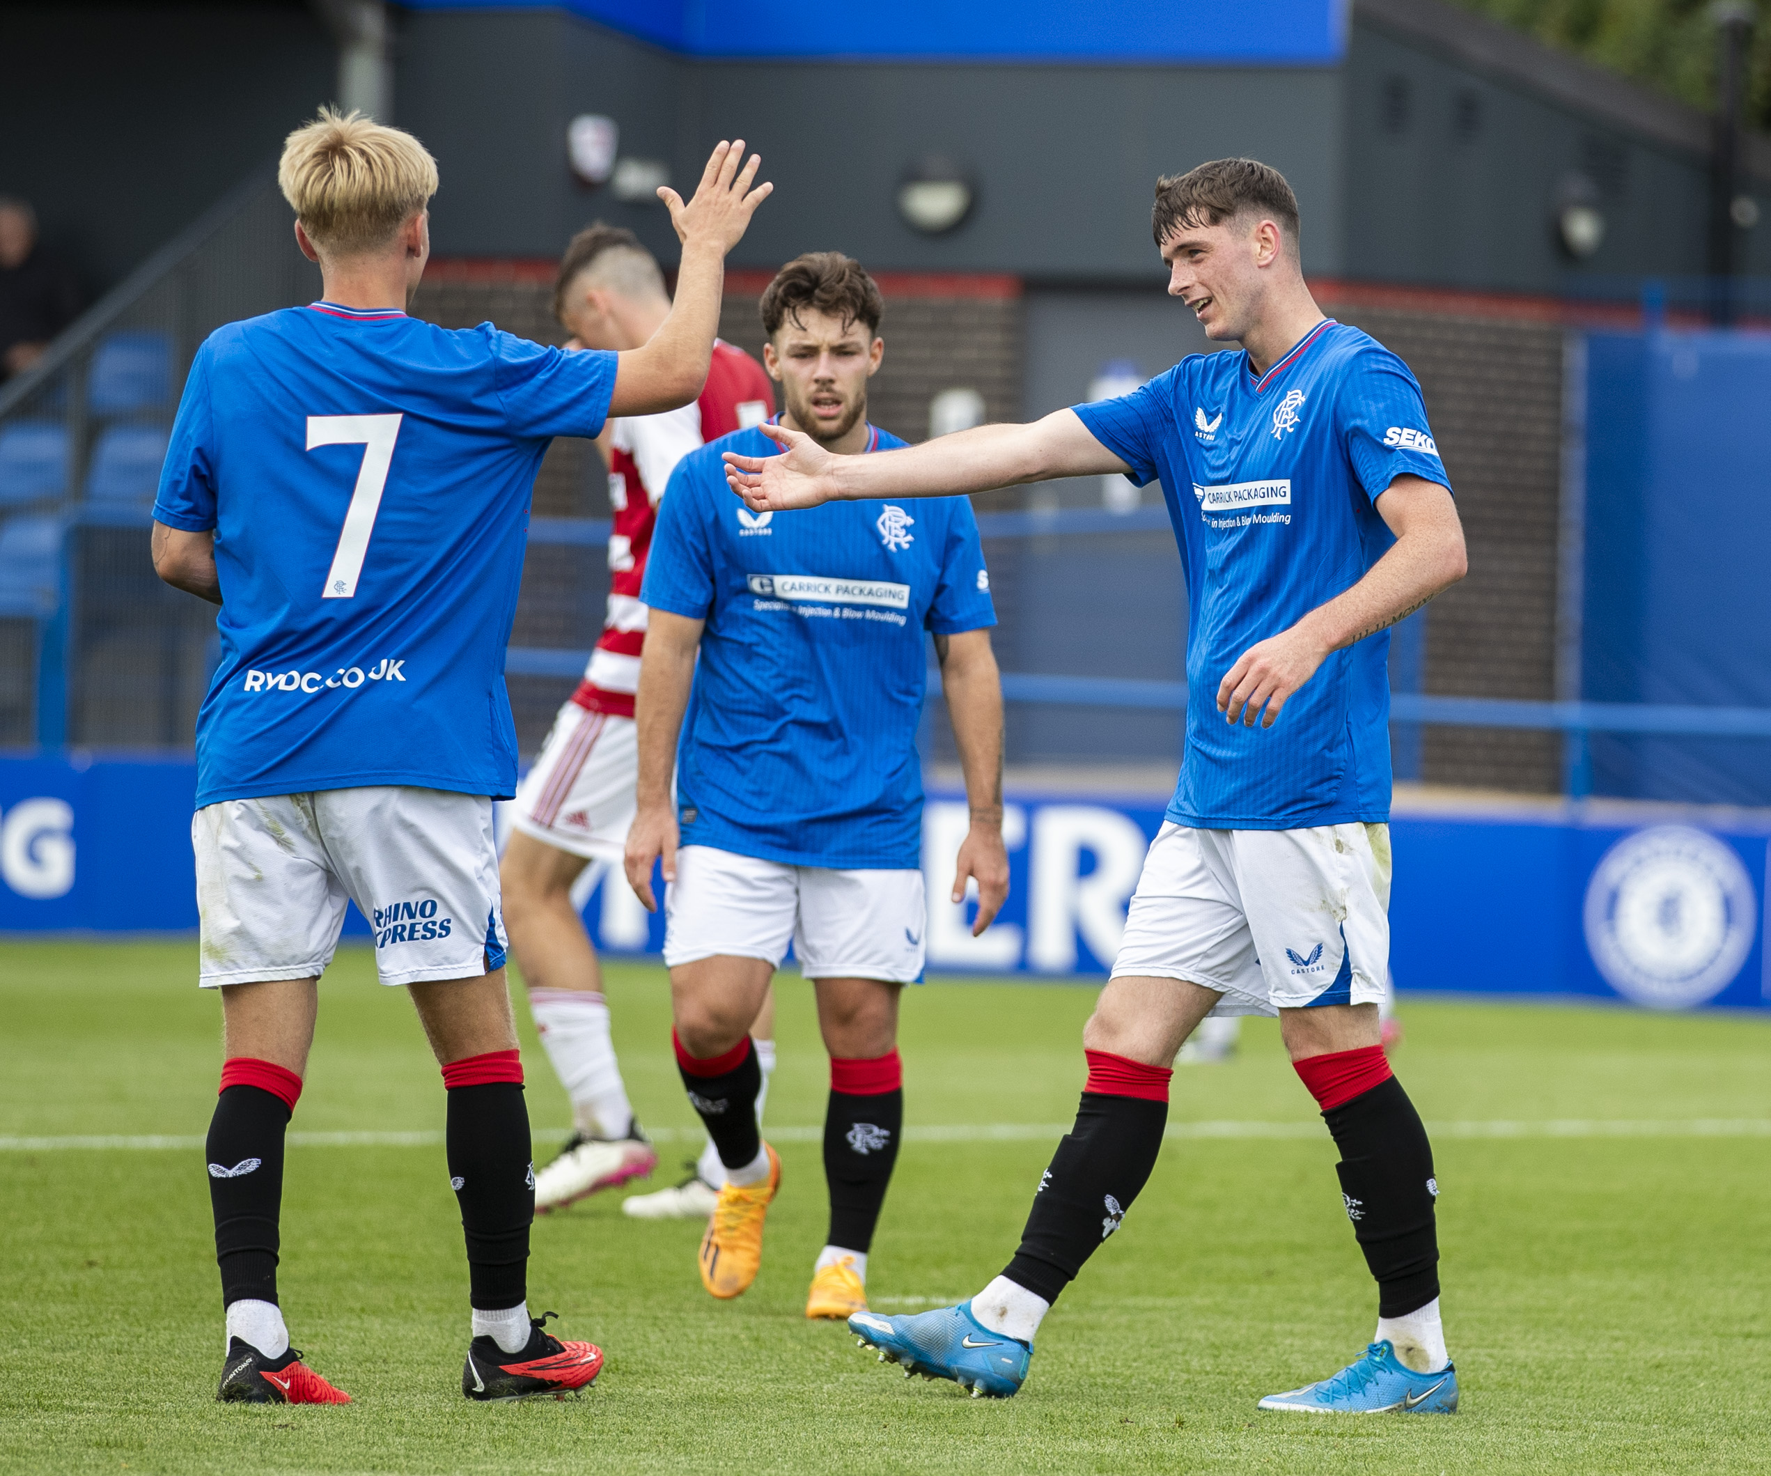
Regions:
<instances>
[{"instance_id":1,"label":"blue jersey with white number 7 on the back","mask_svg":"<svg viewBox=\"0 0 1771 1476\"><path fill-rule=\"evenodd\" d=\"M331 303L197 351L154 517L214 530L221 664L197 804L360 785L508 797L505 643L553 436L595 436L611 353Z\"/></svg>"}]
</instances>

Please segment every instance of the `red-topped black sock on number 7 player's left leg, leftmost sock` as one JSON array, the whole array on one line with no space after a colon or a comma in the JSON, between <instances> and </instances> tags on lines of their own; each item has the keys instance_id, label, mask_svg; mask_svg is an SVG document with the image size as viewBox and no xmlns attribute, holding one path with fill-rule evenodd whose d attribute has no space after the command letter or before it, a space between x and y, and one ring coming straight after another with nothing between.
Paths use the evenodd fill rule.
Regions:
<instances>
[{"instance_id":1,"label":"red-topped black sock on number 7 player's left leg, leftmost sock","mask_svg":"<svg viewBox=\"0 0 1771 1476\"><path fill-rule=\"evenodd\" d=\"M271 1061L234 1058L221 1070L204 1150L223 1308L276 1302L283 1134L299 1095L301 1077Z\"/></svg>"}]
</instances>

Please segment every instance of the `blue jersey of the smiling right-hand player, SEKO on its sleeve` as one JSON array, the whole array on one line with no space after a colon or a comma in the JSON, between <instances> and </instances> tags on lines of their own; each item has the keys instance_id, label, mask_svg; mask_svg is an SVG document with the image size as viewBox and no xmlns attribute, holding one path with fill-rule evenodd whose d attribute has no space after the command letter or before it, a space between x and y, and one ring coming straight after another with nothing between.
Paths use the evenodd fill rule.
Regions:
<instances>
[{"instance_id":1,"label":"blue jersey of the smiling right-hand player, SEKO on its sleeve","mask_svg":"<svg viewBox=\"0 0 1771 1476\"><path fill-rule=\"evenodd\" d=\"M1190 354L1077 406L1139 486L1162 478L1187 571L1187 753L1169 819L1302 829L1390 813L1390 636L1328 656L1272 728L1229 725L1218 684L1256 641L1357 585L1396 542L1396 477L1447 489L1420 386L1357 328L1318 326L1259 379L1245 353Z\"/></svg>"}]
</instances>

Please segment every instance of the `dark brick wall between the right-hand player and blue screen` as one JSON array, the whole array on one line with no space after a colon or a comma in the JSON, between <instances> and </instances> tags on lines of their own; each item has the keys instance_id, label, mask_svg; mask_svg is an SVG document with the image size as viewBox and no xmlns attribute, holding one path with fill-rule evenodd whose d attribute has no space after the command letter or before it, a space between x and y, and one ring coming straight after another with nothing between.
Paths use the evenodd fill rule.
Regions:
<instances>
[{"instance_id":1,"label":"dark brick wall between the right-hand player and blue screen","mask_svg":"<svg viewBox=\"0 0 1771 1476\"><path fill-rule=\"evenodd\" d=\"M1482 303L1406 307L1339 291L1319 291L1323 310L1420 381L1468 539L1468 578L1427 610L1426 689L1553 698L1562 326L1534 305L1484 314ZM1560 751L1557 734L1427 728L1422 778L1555 792Z\"/></svg>"}]
</instances>

